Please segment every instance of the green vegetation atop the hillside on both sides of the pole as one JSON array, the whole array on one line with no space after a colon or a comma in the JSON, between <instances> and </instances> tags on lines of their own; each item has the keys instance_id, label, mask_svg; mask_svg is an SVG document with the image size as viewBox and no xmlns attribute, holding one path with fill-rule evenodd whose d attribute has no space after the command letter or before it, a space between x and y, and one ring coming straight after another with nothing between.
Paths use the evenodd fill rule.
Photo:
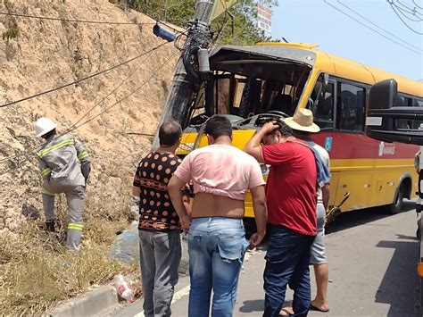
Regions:
<instances>
[{"instance_id":1,"label":"green vegetation atop the hillside on both sides of the pole","mask_svg":"<svg viewBox=\"0 0 423 317\"><path fill-rule=\"evenodd\" d=\"M195 11L197 0L127 0L129 6L146 13L154 19L169 21L185 27ZM263 0L263 4L278 5L278 0ZM232 16L232 18L231 18ZM235 45L253 45L269 39L264 32L256 28L257 2L241 0L229 13L222 14L211 23L215 36L220 34L218 43Z\"/></svg>"}]
</instances>

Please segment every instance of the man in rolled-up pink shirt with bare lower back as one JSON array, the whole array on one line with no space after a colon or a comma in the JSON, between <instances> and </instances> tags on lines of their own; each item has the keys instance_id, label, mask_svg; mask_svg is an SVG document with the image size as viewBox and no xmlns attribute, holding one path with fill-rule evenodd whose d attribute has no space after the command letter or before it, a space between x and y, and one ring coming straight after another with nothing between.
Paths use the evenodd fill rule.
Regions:
<instances>
[{"instance_id":1,"label":"man in rolled-up pink shirt with bare lower back","mask_svg":"<svg viewBox=\"0 0 423 317\"><path fill-rule=\"evenodd\" d=\"M209 146L184 159L170 179L168 190L182 227L188 231L189 294L188 315L232 316L239 271L248 246L261 243L266 234L266 198L259 163L232 146L228 118L214 115L204 129ZM180 188L194 185L192 213L184 208ZM245 192L250 189L257 233L245 239Z\"/></svg>"}]
</instances>

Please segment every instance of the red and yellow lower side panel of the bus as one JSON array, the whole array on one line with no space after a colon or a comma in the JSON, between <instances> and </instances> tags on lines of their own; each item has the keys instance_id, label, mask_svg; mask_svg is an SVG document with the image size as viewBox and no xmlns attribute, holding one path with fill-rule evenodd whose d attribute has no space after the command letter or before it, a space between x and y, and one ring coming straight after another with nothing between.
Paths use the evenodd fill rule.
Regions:
<instances>
[{"instance_id":1,"label":"red and yellow lower side panel of the bus","mask_svg":"<svg viewBox=\"0 0 423 317\"><path fill-rule=\"evenodd\" d=\"M413 157L418 146L380 142L360 133L323 131L314 139L327 149L332 174L339 173L336 194L331 190L335 204L344 193L350 192L350 198L342 206L344 212L392 204L405 174L413 178L411 194L414 194Z\"/></svg>"}]
</instances>

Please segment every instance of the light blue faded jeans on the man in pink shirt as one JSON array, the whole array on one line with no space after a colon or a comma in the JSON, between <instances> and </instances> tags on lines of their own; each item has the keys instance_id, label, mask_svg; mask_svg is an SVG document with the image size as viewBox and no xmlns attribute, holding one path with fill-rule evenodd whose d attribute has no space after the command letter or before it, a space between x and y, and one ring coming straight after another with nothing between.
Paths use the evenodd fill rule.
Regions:
<instances>
[{"instance_id":1,"label":"light blue faded jeans on the man in pink shirt","mask_svg":"<svg viewBox=\"0 0 423 317\"><path fill-rule=\"evenodd\" d=\"M249 245L241 219L195 218L188 232L189 317L230 317L244 254Z\"/></svg>"}]
</instances>

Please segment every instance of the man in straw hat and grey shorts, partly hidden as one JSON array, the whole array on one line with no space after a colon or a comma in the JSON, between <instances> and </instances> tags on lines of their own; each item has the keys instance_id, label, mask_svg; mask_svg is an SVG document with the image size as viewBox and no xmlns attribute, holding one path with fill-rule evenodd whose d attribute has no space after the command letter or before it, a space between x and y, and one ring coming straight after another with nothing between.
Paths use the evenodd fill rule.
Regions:
<instances>
[{"instance_id":1,"label":"man in straw hat and grey shorts, partly hidden","mask_svg":"<svg viewBox=\"0 0 423 317\"><path fill-rule=\"evenodd\" d=\"M329 170L329 154L321 146L311 139L311 135L319 132L319 127L313 123L313 114L308 109L300 109L294 117L286 118L286 124L293 129L294 137L307 143ZM328 312L328 279L329 267L325 253L325 218L329 203L329 179L330 175L319 182L317 204L317 236L311 245L310 263L314 267L316 277L317 294L311 301L311 309L319 312Z\"/></svg>"}]
</instances>

